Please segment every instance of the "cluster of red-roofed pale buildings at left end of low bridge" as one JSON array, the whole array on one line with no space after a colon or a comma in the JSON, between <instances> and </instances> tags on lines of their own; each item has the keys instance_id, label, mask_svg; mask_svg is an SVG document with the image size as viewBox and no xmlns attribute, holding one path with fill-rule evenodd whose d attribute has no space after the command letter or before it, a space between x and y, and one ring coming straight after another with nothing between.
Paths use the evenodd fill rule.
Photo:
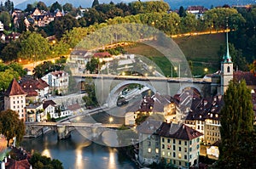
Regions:
<instances>
[{"instance_id":1,"label":"cluster of red-roofed pale buildings at left end of low bridge","mask_svg":"<svg viewBox=\"0 0 256 169\"><path fill-rule=\"evenodd\" d=\"M73 107L56 104L52 93L67 93L69 75L63 70L52 71L41 79L24 76L15 79L4 92L4 110L15 110L20 119L27 122L46 121L73 114Z\"/></svg>"}]
</instances>

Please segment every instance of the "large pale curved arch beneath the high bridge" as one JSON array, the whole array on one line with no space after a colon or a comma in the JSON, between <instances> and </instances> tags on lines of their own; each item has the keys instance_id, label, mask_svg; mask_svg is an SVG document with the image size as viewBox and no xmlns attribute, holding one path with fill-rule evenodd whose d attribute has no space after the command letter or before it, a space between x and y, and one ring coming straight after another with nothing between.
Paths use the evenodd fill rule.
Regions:
<instances>
[{"instance_id":1,"label":"large pale curved arch beneath the high bridge","mask_svg":"<svg viewBox=\"0 0 256 169\"><path fill-rule=\"evenodd\" d=\"M124 81L120 82L118 85L113 87L113 89L110 91L108 94L108 99L106 100L106 103L108 103L108 107L111 107L113 105L116 105L118 98L119 98L119 93L129 84L140 84L144 87L148 87L152 92L156 93L155 87L153 87L150 82L147 81Z\"/></svg>"}]
</instances>

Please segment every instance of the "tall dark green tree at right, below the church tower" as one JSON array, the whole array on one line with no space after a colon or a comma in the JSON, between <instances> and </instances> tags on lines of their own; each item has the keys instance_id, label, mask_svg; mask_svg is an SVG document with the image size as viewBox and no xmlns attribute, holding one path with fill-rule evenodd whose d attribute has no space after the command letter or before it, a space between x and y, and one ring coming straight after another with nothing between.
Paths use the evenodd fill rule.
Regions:
<instances>
[{"instance_id":1,"label":"tall dark green tree at right, below the church tower","mask_svg":"<svg viewBox=\"0 0 256 169\"><path fill-rule=\"evenodd\" d=\"M220 112L221 146L218 168L256 166L253 104L246 82L231 81Z\"/></svg>"}]
</instances>

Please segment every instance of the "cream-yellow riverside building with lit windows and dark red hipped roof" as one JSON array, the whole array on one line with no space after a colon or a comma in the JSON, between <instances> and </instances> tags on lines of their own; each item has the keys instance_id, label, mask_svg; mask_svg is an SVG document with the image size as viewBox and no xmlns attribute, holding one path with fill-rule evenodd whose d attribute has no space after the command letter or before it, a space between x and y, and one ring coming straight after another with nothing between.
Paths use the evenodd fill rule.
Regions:
<instances>
[{"instance_id":1,"label":"cream-yellow riverside building with lit windows and dark red hipped roof","mask_svg":"<svg viewBox=\"0 0 256 169\"><path fill-rule=\"evenodd\" d=\"M183 168L198 165L201 132L184 124L164 122L157 134L160 136L160 157L167 163Z\"/></svg>"}]
</instances>

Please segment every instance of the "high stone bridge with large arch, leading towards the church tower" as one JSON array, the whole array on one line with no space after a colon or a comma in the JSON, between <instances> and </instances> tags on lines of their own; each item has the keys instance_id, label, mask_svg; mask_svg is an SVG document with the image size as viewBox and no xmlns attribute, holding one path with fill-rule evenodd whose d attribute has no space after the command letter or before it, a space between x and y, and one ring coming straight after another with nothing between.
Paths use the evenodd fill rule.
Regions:
<instances>
[{"instance_id":1,"label":"high stone bridge with large arch, leading towards the church tower","mask_svg":"<svg viewBox=\"0 0 256 169\"><path fill-rule=\"evenodd\" d=\"M77 84L85 82L87 77L95 83L96 97L100 104L108 107L116 104L119 93L129 84L141 84L151 89L154 93L163 95L175 95L181 93L184 88L195 88L202 96L213 94L217 90L211 81L202 78L186 77L156 77L156 76L113 76L102 74L74 75Z\"/></svg>"}]
</instances>

